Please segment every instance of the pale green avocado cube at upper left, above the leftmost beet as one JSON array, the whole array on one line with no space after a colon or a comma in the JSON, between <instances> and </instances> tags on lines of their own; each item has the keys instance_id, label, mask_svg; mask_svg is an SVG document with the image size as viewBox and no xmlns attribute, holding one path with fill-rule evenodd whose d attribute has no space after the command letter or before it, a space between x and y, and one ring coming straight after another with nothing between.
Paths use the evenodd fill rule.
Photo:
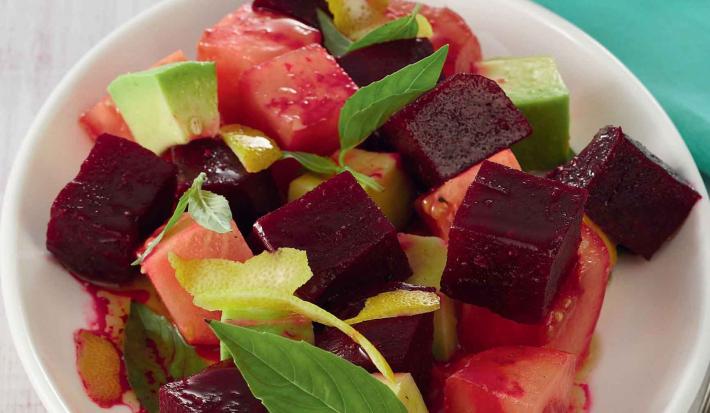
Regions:
<instances>
[{"instance_id":1,"label":"pale green avocado cube at upper left, above the leftmost beet","mask_svg":"<svg viewBox=\"0 0 710 413\"><path fill-rule=\"evenodd\" d=\"M108 87L131 133L156 154L219 132L214 62L179 62L117 77Z\"/></svg>"}]
</instances>

